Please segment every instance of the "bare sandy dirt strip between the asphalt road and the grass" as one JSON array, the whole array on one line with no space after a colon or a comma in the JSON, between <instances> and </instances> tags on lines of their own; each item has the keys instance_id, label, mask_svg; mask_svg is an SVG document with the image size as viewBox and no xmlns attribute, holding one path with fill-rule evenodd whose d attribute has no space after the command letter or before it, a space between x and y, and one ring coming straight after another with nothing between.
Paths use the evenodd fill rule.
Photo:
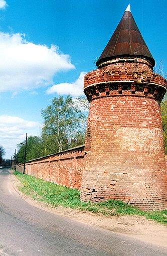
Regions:
<instances>
[{"instance_id":1,"label":"bare sandy dirt strip between the asphalt road and the grass","mask_svg":"<svg viewBox=\"0 0 167 256\"><path fill-rule=\"evenodd\" d=\"M25 201L42 210L75 219L89 225L108 229L113 232L122 233L145 242L167 247L167 228L165 225L155 223L154 221L147 220L140 216L104 216L91 212L81 212L71 208L51 207L47 203L33 200L21 193L18 190L21 183L12 173L10 175L10 182Z\"/></svg>"}]
</instances>

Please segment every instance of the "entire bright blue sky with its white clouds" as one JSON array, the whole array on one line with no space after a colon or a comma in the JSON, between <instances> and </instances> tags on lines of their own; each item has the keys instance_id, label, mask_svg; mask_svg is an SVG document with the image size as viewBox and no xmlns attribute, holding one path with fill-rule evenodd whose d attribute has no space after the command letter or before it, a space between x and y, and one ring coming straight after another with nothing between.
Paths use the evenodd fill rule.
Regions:
<instances>
[{"instance_id":1,"label":"entire bright blue sky with its white clouds","mask_svg":"<svg viewBox=\"0 0 167 256\"><path fill-rule=\"evenodd\" d=\"M166 0L0 0L0 145L11 157L54 96L82 94L124 10L167 72ZM52 87L53 86L53 87ZM52 87L52 88L51 88Z\"/></svg>"}]
</instances>

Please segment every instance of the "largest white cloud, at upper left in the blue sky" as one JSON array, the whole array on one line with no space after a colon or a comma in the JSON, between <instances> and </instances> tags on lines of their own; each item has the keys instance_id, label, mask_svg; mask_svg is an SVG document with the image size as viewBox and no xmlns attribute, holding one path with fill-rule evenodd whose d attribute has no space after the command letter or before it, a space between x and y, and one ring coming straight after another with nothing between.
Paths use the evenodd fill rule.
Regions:
<instances>
[{"instance_id":1,"label":"largest white cloud, at upper left in the blue sky","mask_svg":"<svg viewBox=\"0 0 167 256\"><path fill-rule=\"evenodd\" d=\"M70 56L60 53L57 46L28 42L20 33L0 32L0 56L0 92L53 84L57 72L75 68Z\"/></svg>"}]
</instances>

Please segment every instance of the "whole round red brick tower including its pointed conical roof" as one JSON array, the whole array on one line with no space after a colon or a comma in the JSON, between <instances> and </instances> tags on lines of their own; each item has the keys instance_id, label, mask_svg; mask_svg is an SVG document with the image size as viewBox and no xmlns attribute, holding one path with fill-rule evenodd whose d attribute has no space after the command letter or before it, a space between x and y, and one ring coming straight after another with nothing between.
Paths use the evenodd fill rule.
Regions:
<instances>
[{"instance_id":1,"label":"whole round red brick tower including its pointed conical roof","mask_svg":"<svg viewBox=\"0 0 167 256\"><path fill-rule=\"evenodd\" d=\"M90 110L81 200L167 208L159 107L166 80L152 72L129 6L96 65L84 78Z\"/></svg>"}]
</instances>

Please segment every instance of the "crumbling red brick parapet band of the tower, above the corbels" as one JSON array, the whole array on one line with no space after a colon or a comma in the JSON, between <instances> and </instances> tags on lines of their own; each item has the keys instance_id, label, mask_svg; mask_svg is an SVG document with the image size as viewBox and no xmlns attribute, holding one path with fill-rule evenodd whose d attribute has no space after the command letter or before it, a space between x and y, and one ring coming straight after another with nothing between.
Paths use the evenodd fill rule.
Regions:
<instances>
[{"instance_id":1,"label":"crumbling red brick parapet band of the tower, above the corbels","mask_svg":"<svg viewBox=\"0 0 167 256\"><path fill-rule=\"evenodd\" d=\"M114 81L138 81L166 87L166 80L159 74L152 73L149 61L129 57L114 59L108 65L87 73L84 89L91 84Z\"/></svg>"}]
</instances>

